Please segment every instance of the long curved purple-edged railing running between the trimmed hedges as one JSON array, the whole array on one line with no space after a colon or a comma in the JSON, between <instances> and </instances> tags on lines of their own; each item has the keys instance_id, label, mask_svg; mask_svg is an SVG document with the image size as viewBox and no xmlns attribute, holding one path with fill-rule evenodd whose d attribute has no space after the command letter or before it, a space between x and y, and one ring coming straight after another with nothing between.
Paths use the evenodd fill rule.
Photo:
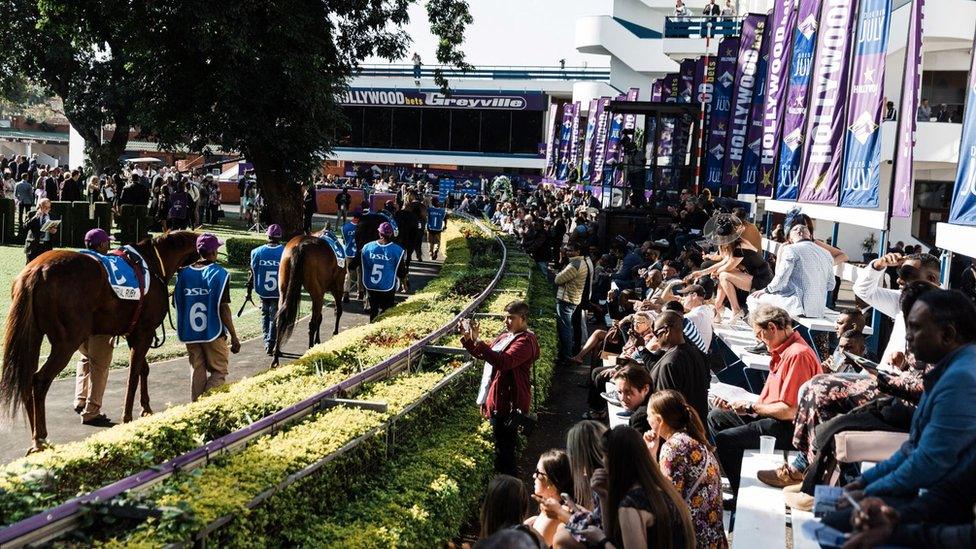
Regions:
<instances>
[{"instance_id":1,"label":"long curved purple-edged railing running between the trimmed hedges","mask_svg":"<svg viewBox=\"0 0 976 549\"><path fill-rule=\"evenodd\" d=\"M209 463L211 458L232 451L235 448L239 448L254 438L266 434L273 434L285 423L290 423L297 419L301 419L315 412L322 401L340 395L363 383L382 378L401 361L409 360L413 354L423 352L423 348L426 345L453 330L462 318L469 316L481 306L484 300L491 295L495 287L501 281L508 264L508 248L505 246L503 239L490 231L480 220L468 214L454 212L454 215L466 218L467 220L473 222L482 232L492 235L495 241L498 242L498 245L501 246L502 257L498 267L498 272L495 273L495 277L491 280L488 286L485 287L485 289L451 321L447 322L440 328L437 328L426 337L415 342L406 349L384 359L383 361L358 374L350 376L345 380L328 387L322 392L313 395L299 402L298 404L293 404L288 408L279 410L246 427L234 431L233 433L224 435L216 440L204 444L195 450L191 450L182 456L173 458L158 466L146 469L145 471L130 475L126 478L115 481L108 486L103 486L98 490L68 500L57 507L48 509L32 517L28 517L20 522L16 522L7 528L0 530L0 546L20 547L30 543L40 543L56 538L75 528L82 518L86 505L111 500L124 492L144 490L166 480L178 471L195 469L200 465Z\"/></svg>"}]
</instances>

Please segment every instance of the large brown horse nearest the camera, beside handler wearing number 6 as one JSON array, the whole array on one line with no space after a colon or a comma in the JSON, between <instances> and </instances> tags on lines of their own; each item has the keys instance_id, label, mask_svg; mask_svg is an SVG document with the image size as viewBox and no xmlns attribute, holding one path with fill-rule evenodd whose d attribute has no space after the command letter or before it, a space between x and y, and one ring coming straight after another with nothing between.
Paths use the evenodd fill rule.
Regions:
<instances>
[{"instance_id":1,"label":"large brown horse nearest the camera, beside handler wearing number 6","mask_svg":"<svg viewBox=\"0 0 976 549\"><path fill-rule=\"evenodd\" d=\"M17 276L7 317L0 407L8 418L16 415L21 403L27 410L33 438L28 453L40 451L46 444L44 399L51 382L90 335L124 335L129 343L129 380L122 421L132 420L132 401L140 381L143 415L152 413L146 386L146 353L169 310L170 278L198 257L196 239L196 233L180 231L133 246L145 259L149 267L146 276L151 278L141 309L138 301L116 297L104 267L78 252L45 252ZM51 354L38 369L44 336L51 343Z\"/></svg>"}]
</instances>

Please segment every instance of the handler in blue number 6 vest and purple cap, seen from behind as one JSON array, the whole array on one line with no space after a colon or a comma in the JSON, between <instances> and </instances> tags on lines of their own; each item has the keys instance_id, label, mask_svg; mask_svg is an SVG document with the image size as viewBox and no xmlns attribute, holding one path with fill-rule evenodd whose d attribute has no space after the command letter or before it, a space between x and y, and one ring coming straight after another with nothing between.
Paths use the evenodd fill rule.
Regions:
<instances>
[{"instance_id":1,"label":"handler in blue number 6 vest and purple cap, seen from behind","mask_svg":"<svg viewBox=\"0 0 976 549\"><path fill-rule=\"evenodd\" d=\"M230 275L216 263L221 242L206 233L197 237L200 259L179 270L173 301L176 332L190 361L190 398L224 384L230 354L241 350L230 312ZM230 334L230 347L227 346Z\"/></svg>"}]
</instances>

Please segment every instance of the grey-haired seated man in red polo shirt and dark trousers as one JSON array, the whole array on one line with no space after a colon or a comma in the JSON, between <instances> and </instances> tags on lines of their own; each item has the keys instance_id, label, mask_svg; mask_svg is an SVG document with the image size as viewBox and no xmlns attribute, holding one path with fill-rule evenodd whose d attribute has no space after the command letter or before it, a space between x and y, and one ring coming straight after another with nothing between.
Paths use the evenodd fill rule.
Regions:
<instances>
[{"instance_id":1,"label":"grey-haired seated man in red polo shirt and dark trousers","mask_svg":"<svg viewBox=\"0 0 976 549\"><path fill-rule=\"evenodd\" d=\"M742 452L759 447L759 437L776 437L776 447L790 449L800 386L821 373L813 349L793 330L785 310L763 304L749 315L756 338L769 349L769 377L755 404L714 399L708 413L709 434L732 487L739 491Z\"/></svg>"}]
</instances>

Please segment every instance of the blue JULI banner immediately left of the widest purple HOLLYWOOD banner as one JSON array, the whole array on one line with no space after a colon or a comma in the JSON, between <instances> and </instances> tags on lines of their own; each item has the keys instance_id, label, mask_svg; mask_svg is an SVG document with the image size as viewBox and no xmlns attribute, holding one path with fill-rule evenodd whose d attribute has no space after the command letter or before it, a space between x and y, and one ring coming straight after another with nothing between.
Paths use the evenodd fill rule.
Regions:
<instances>
[{"instance_id":1,"label":"blue JULI banner immediately left of the widest purple HOLLYWOOD banner","mask_svg":"<svg viewBox=\"0 0 976 549\"><path fill-rule=\"evenodd\" d=\"M775 193L778 200L796 200L800 190L803 130L807 120L807 98L810 92L810 71L813 68L813 49L817 44L820 1L800 0L797 8L790 80L786 87L782 137L778 145L779 167Z\"/></svg>"}]
</instances>

